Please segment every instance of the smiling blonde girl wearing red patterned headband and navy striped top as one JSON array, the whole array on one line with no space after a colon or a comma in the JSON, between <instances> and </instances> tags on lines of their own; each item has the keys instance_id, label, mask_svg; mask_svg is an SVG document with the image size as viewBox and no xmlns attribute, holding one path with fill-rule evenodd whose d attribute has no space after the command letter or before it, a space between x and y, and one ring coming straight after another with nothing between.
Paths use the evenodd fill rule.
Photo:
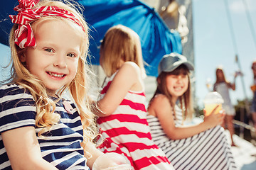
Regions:
<instances>
[{"instance_id":1,"label":"smiling blonde girl wearing red patterned headband and navy striped top","mask_svg":"<svg viewBox=\"0 0 256 170\"><path fill-rule=\"evenodd\" d=\"M85 105L87 25L63 2L19 2L10 16L11 81L0 88L0 167L92 169L103 153L90 142ZM62 98L67 90L77 108Z\"/></svg>"}]
</instances>

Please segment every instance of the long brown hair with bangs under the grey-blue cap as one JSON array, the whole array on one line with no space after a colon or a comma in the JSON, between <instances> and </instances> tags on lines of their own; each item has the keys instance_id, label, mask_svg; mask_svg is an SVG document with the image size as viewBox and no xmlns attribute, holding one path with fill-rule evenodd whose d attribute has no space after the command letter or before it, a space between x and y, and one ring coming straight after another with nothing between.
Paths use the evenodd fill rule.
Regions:
<instances>
[{"instance_id":1,"label":"long brown hair with bangs under the grey-blue cap","mask_svg":"<svg viewBox=\"0 0 256 170\"><path fill-rule=\"evenodd\" d=\"M192 115L193 115L193 102L191 99L191 83L190 83L190 77L189 77L190 72L189 72L188 67L186 67L186 65L181 64L179 67L174 69L174 71L172 71L172 72L161 72L159 74L159 76L157 77L156 92L155 92L154 96L151 98L151 101L154 99L154 97L157 94L164 94L169 99L171 108L173 108L174 117L176 118L175 109L174 109L175 103L171 102L172 96L169 93L169 90L166 86L166 77L168 75L179 75L179 74L188 76L188 89L185 91L185 93L182 96L180 96L178 98L178 100L180 101L180 104L181 104L181 109L183 111L183 116L184 116L184 120L185 120L186 118L192 118Z\"/></svg>"}]
</instances>

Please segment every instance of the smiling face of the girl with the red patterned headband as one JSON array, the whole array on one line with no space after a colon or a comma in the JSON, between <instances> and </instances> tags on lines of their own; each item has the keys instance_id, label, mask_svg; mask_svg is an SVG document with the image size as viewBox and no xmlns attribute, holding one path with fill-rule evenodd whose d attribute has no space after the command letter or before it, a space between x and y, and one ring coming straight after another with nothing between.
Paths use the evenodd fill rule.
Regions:
<instances>
[{"instance_id":1,"label":"smiling face of the girl with the red patterned headband","mask_svg":"<svg viewBox=\"0 0 256 170\"><path fill-rule=\"evenodd\" d=\"M42 21L33 31L36 48L28 47L21 62L43 81L48 94L55 94L75 78L82 39L61 20Z\"/></svg>"}]
</instances>

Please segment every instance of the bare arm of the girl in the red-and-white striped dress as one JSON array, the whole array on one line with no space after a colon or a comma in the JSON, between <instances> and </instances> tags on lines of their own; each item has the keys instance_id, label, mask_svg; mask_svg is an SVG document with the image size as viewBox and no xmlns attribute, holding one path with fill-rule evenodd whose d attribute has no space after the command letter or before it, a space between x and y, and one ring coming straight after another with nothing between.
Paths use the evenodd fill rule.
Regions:
<instances>
[{"instance_id":1,"label":"bare arm of the girl in the red-and-white striped dress","mask_svg":"<svg viewBox=\"0 0 256 170\"><path fill-rule=\"evenodd\" d=\"M134 62L124 62L114 77L110 88L105 96L97 101L97 107L100 111L94 112L98 116L111 115L117 106L122 102L124 96L131 89L143 89L143 82L140 74L140 69ZM138 81L141 81L138 83Z\"/></svg>"}]
</instances>

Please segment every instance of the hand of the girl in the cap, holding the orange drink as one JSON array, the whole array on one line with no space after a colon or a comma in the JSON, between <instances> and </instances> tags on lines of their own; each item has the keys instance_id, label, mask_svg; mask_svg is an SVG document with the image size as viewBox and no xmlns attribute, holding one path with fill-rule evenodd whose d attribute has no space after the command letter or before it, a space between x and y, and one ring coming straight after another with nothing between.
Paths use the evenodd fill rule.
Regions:
<instances>
[{"instance_id":1,"label":"hand of the girl in the cap, holding the orange drink","mask_svg":"<svg viewBox=\"0 0 256 170\"><path fill-rule=\"evenodd\" d=\"M215 113L216 109L220 107L219 105L216 106L212 113L210 115L205 115L205 118L203 120L203 123L208 127L208 128L213 128L216 125L221 125L223 123L224 117L225 117L225 111L220 110L219 113ZM204 113L206 113L205 110L203 110Z\"/></svg>"}]
</instances>

